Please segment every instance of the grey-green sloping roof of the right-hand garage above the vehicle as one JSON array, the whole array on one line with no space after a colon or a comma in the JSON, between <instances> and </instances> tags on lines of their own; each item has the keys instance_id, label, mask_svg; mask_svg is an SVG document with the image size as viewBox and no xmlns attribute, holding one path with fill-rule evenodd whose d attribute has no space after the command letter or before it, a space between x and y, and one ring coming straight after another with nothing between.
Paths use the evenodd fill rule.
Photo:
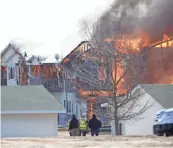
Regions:
<instances>
[{"instance_id":1,"label":"grey-green sloping roof of the right-hand garage above the vehicle","mask_svg":"<svg viewBox=\"0 0 173 148\"><path fill-rule=\"evenodd\" d=\"M173 107L173 84L142 84L140 86L164 108Z\"/></svg>"}]
</instances>

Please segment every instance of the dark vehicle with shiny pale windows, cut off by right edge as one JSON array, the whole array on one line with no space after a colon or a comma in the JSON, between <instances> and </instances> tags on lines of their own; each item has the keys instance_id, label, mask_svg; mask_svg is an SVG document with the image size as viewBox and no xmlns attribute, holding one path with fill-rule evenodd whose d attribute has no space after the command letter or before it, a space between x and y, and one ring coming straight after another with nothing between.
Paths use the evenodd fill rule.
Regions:
<instances>
[{"instance_id":1,"label":"dark vehicle with shiny pale windows, cut off by right edge","mask_svg":"<svg viewBox=\"0 0 173 148\"><path fill-rule=\"evenodd\" d=\"M156 114L153 132L158 136L173 135L173 108L162 110Z\"/></svg>"}]
</instances>

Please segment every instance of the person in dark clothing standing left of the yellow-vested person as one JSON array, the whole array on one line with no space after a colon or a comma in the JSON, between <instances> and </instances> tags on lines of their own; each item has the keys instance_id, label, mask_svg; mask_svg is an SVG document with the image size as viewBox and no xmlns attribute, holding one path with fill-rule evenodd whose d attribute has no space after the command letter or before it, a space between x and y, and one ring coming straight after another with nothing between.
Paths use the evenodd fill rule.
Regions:
<instances>
[{"instance_id":1,"label":"person in dark clothing standing left of the yellow-vested person","mask_svg":"<svg viewBox=\"0 0 173 148\"><path fill-rule=\"evenodd\" d=\"M70 131L71 136L78 136L79 121L77 120L75 115L72 116L72 119L70 121L69 131Z\"/></svg>"}]
</instances>

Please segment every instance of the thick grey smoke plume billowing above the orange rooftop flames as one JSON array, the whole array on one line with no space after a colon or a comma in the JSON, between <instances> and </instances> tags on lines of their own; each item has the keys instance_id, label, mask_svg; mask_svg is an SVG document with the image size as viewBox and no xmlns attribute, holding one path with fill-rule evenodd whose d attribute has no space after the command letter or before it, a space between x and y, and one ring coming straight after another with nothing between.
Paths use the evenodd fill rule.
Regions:
<instances>
[{"instance_id":1,"label":"thick grey smoke plume billowing above the orange rooftop flames","mask_svg":"<svg viewBox=\"0 0 173 148\"><path fill-rule=\"evenodd\" d=\"M139 35L140 30L159 40L163 32L173 35L173 0L115 0L99 19L95 36L99 40L121 34Z\"/></svg>"}]
</instances>

